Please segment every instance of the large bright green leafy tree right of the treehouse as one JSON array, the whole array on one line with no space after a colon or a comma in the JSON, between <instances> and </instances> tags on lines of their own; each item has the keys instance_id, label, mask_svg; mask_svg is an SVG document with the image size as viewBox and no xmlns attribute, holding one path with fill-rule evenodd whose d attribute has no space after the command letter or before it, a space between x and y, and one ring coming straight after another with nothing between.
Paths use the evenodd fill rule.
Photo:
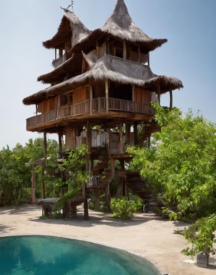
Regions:
<instances>
[{"instance_id":1,"label":"large bright green leafy tree right of the treehouse","mask_svg":"<svg viewBox=\"0 0 216 275\"><path fill-rule=\"evenodd\" d=\"M208 215L214 213L216 205L216 128L202 114L196 116L189 111L182 117L179 109L164 111L158 103L156 121L161 132L153 135L149 150L129 146L133 155L130 169L148 177L151 188L177 213L199 215L208 204Z\"/></svg>"}]
</instances>

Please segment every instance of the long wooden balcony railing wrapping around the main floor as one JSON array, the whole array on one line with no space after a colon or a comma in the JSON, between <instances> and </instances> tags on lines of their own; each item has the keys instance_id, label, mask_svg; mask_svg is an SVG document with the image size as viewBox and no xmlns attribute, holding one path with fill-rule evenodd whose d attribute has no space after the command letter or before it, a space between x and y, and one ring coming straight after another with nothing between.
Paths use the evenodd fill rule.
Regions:
<instances>
[{"instance_id":1,"label":"long wooden balcony railing wrapping around the main floor","mask_svg":"<svg viewBox=\"0 0 216 275\"><path fill-rule=\"evenodd\" d=\"M114 99L109 98L109 111L123 111L123 112L133 112L137 114L151 114L155 115L155 109L151 104L134 102L129 100ZM106 98L98 98L92 100L92 111L93 114L98 111L106 110ZM73 118L82 114L90 113L90 99L83 102L66 105L60 107L58 110L53 110L48 113L39 114L31 118L26 119L26 128L31 128L33 126L43 125L45 123L51 123L56 120L63 118Z\"/></svg>"}]
</instances>

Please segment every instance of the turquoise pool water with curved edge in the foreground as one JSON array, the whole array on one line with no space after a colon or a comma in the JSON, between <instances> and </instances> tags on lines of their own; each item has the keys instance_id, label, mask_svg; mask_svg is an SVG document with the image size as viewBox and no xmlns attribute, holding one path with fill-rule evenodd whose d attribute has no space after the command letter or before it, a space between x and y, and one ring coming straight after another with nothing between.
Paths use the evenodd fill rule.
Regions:
<instances>
[{"instance_id":1,"label":"turquoise pool water with curved edge in the foreground","mask_svg":"<svg viewBox=\"0 0 216 275\"><path fill-rule=\"evenodd\" d=\"M1 275L158 275L136 255L51 236L0 238Z\"/></svg>"}]
</instances>

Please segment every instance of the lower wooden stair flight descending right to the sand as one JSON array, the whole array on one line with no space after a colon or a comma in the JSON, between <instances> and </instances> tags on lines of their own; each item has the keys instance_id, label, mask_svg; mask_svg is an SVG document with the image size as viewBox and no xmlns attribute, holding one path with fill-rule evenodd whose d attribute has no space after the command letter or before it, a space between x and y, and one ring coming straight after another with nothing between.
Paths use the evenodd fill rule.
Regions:
<instances>
[{"instance_id":1,"label":"lower wooden stair flight descending right to the sand","mask_svg":"<svg viewBox=\"0 0 216 275\"><path fill-rule=\"evenodd\" d=\"M153 192L149 189L145 181L141 179L139 172L127 172L126 184L134 194L139 196L143 201L149 203L157 203L159 207L163 207L164 203L158 199Z\"/></svg>"}]
</instances>

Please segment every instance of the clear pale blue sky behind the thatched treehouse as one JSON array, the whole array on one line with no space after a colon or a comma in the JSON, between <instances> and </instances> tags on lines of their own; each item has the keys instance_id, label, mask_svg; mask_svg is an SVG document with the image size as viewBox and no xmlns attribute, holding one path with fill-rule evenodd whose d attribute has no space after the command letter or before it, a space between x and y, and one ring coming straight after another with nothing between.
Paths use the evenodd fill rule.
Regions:
<instances>
[{"instance_id":1,"label":"clear pale blue sky behind the thatched treehouse","mask_svg":"<svg viewBox=\"0 0 216 275\"><path fill-rule=\"evenodd\" d=\"M17 142L25 145L39 134L25 130L25 119L35 106L22 99L47 87L37 76L52 71L55 50L42 47L52 38L70 0L2 1L1 23L1 135L0 149ZM102 27L117 0L75 0L74 12L88 29ZM216 121L215 105L215 0L125 0L129 13L149 37L168 43L150 53L150 66L157 75L176 76L184 89L173 92L173 105L202 110ZM169 105L169 95L161 105ZM56 138L56 135L49 135Z\"/></svg>"}]
</instances>

